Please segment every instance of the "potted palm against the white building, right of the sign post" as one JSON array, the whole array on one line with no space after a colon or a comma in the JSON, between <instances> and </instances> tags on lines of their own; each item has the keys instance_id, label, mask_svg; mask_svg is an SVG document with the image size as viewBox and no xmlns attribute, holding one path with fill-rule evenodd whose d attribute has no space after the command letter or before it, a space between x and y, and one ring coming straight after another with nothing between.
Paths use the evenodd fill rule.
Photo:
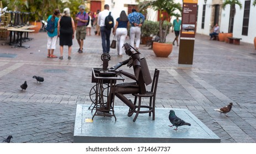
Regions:
<instances>
[{"instance_id":1,"label":"potted palm against the white building, right of the sign post","mask_svg":"<svg viewBox=\"0 0 256 154\"><path fill-rule=\"evenodd\" d=\"M228 42L228 38L227 37L233 37L232 31L233 29L231 29L231 22L232 19L234 19L234 15L236 14L236 7L235 5L237 4L239 6L240 9L242 9L242 4L241 2L239 2L239 0L226 0L223 2L222 6L223 9L226 8L226 5L230 5L230 14L229 14L229 26L228 26L228 34L226 34L225 37L225 42ZM234 9L234 11L232 11Z\"/></svg>"}]
</instances>

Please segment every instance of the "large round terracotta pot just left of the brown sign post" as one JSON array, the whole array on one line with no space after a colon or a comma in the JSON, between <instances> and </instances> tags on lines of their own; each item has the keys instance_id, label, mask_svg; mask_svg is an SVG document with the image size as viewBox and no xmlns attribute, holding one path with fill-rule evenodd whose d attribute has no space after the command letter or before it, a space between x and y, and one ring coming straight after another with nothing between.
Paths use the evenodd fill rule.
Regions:
<instances>
[{"instance_id":1,"label":"large round terracotta pot just left of the brown sign post","mask_svg":"<svg viewBox=\"0 0 256 154\"><path fill-rule=\"evenodd\" d=\"M153 51L156 57L168 57L173 51L173 44L153 42Z\"/></svg>"}]
</instances>

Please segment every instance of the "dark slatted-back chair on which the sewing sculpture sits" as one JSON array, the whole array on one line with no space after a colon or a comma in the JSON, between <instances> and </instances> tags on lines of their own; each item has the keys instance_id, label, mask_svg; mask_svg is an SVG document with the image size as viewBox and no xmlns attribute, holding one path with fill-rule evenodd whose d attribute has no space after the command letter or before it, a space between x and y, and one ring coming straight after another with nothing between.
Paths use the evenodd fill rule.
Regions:
<instances>
[{"instance_id":1,"label":"dark slatted-back chair on which the sewing sculpture sits","mask_svg":"<svg viewBox=\"0 0 256 154\"><path fill-rule=\"evenodd\" d=\"M155 69L154 78L151 86L151 91L147 91L145 94L133 94L135 96L134 98L134 105L136 106L137 103L137 97L139 97L139 104L136 106L135 110L135 117L133 119L133 122L137 119L139 113L149 113L149 116L151 116L151 112L153 114L152 120L155 120L155 96L156 96L156 89L158 87L158 77L159 77L159 70ZM142 105L142 97L149 97L149 106ZM140 111L141 108L147 108L148 110Z\"/></svg>"}]
</instances>

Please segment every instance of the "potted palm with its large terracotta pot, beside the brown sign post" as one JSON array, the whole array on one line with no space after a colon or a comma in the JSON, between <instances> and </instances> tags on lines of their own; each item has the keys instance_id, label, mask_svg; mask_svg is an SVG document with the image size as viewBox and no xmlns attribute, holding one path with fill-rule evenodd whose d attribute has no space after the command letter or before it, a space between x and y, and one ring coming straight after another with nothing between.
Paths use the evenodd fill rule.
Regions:
<instances>
[{"instance_id":1,"label":"potted palm with its large terracotta pot, beside the brown sign post","mask_svg":"<svg viewBox=\"0 0 256 154\"><path fill-rule=\"evenodd\" d=\"M175 13L175 11L179 10L181 12L181 4L175 3L174 0L154 0L142 3L140 8L152 7L154 10L159 11L159 42L153 43L153 51L156 57L168 57L173 50L173 44L165 43L165 38L170 26L169 24L166 26L163 25L162 12L168 13L169 17L180 17L180 14Z\"/></svg>"}]
</instances>

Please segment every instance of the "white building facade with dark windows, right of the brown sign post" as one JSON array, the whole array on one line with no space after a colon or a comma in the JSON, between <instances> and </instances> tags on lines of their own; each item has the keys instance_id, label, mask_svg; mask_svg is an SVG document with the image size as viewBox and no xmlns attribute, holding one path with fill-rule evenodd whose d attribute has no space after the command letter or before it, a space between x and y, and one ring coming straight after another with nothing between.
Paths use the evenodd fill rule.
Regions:
<instances>
[{"instance_id":1,"label":"white building facade with dark windows, right of the brown sign post","mask_svg":"<svg viewBox=\"0 0 256 154\"><path fill-rule=\"evenodd\" d=\"M253 43L256 37L256 7L252 5L252 0L240 0L242 8L235 5L236 14L230 22L229 15L231 5L226 5L223 9L221 0L198 0L197 12L197 33L208 35L212 27L218 23L220 32L232 32L233 37L242 38L242 42ZM231 30L229 30L229 25Z\"/></svg>"}]
</instances>

